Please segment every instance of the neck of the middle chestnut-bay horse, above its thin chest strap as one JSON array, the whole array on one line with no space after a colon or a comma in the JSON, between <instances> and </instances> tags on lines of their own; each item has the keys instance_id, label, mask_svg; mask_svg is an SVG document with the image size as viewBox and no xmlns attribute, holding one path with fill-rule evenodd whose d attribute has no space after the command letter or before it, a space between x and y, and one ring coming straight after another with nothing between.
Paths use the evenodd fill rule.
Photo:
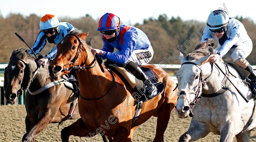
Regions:
<instances>
[{"instance_id":1,"label":"neck of the middle chestnut-bay horse, above its thin chest strap","mask_svg":"<svg viewBox=\"0 0 256 142\"><path fill-rule=\"evenodd\" d=\"M87 59L86 56L88 56ZM83 52L82 59L86 59L86 61L84 60L83 65L86 67L94 66L95 62L97 62L96 58L94 58L93 54L88 50L87 53ZM80 87L81 94L88 94L88 98L100 97L106 90L111 89L113 80L112 75L108 72L105 66L102 66L99 63L93 68L76 71L76 74L79 86L83 86ZM94 94L94 96L90 96L92 94Z\"/></svg>"}]
</instances>

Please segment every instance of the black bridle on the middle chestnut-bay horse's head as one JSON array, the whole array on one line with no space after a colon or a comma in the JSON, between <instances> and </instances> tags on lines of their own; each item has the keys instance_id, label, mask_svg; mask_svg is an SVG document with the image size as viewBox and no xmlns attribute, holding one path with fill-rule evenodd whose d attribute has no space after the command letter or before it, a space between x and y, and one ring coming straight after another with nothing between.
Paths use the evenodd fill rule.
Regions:
<instances>
[{"instance_id":1,"label":"black bridle on the middle chestnut-bay horse's head","mask_svg":"<svg viewBox=\"0 0 256 142\"><path fill-rule=\"evenodd\" d=\"M74 63L75 63L76 60L77 60L78 57L79 57L79 54L80 54L80 52L81 52L81 48L82 48L82 47L84 48L84 44L83 44L83 41L80 39L80 37L77 36L76 34L69 33L69 34L67 34L67 35L73 35L73 36L75 36L76 39L78 39L78 41L79 41L79 51L78 51L78 54L76 55L76 58L75 58L75 61L74 61ZM66 35L66 36L67 36L67 35ZM85 48L84 48L84 51L85 51L86 54L88 55L88 53L87 53L87 51L86 51ZM95 60L95 63L94 63L93 66L88 66L88 67L86 67L86 66L80 66L80 65L78 65L78 66L71 66L71 65L74 65L74 63L73 63L73 62L70 62L66 68L63 68L63 70L66 70L67 72L70 72L72 69L75 69L75 70L80 71L80 69L84 70L84 69L93 68L93 67L95 67L95 66L97 65L97 60L96 60L96 58L95 58L95 55L93 55L93 56L94 56L94 60ZM88 57L88 56L86 56L85 62L86 62L86 60L87 60L87 57ZM65 66L66 66L66 65L65 65ZM69 66L71 66L71 67L68 68Z\"/></svg>"}]
</instances>

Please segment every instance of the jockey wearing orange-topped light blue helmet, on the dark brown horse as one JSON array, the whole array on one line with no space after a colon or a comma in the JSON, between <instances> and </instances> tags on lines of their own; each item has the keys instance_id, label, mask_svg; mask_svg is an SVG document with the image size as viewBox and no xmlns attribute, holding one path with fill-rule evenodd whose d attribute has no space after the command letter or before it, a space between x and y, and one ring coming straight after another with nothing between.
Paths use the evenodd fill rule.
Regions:
<instances>
[{"instance_id":1,"label":"jockey wearing orange-topped light blue helmet, on the dark brown horse","mask_svg":"<svg viewBox=\"0 0 256 142\"><path fill-rule=\"evenodd\" d=\"M45 44L46 40L49 43L54 43L55 47L42 59L38 60L38 65L45 65L48 60L55 58L57 52L57 44L62 41L64 36L72 32L75 27L67 22L59 22L54 15L46 14L40 20L40 32L37 35L34 46L31 48L36 54L40 52ZM31 51L30 51L31 53Z\"/></svg>"}]
</instances>

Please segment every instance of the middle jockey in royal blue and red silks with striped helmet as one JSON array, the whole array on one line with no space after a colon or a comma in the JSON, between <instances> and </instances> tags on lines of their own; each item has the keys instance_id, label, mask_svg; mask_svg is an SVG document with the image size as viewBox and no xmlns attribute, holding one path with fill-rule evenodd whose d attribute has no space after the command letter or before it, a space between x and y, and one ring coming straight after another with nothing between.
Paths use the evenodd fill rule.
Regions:
<instances>
[{"instance_id":1,"label":"middle jockey in royal blue and red silks with striped helmet","mask_svg":"<svg viewBox=\"0 0 256 142\"><path fill-rule=\"evenodd\" d=\"M103 59L112 61L130 71L137 79L149 84L145 96L149 98L157 90L140 67L147 64L153 57L154 51L147 35L140 29L130 25L120 25L120 19L112 13L104 14L99 20L98 31L102 33L104 46L101 50L92 49L92 53ZM117 49L115 52L114 49ZM142 84L143 85L143 84ZM138 85L133 88L138 90Z\"/></svg>"}]
</instances>

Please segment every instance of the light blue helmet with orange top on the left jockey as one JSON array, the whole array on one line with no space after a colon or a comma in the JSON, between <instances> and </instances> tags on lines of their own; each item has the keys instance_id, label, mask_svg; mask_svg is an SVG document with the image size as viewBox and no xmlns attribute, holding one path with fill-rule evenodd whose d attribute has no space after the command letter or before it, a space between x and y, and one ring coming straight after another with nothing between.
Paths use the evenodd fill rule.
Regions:
<instances>
[{"instance_id":1,"label":"light blue helmet with orange top on the left jockey","mask_svg":"<svg viewBox=\"0 0 256 142\"><path fill-rule=\"evenodd\" d=\"M40 20L39 30L54 28L54 27L57 27L58 24L59 24L59 20L54 15L46 14Z\"/></svg>"}]
</instances>

